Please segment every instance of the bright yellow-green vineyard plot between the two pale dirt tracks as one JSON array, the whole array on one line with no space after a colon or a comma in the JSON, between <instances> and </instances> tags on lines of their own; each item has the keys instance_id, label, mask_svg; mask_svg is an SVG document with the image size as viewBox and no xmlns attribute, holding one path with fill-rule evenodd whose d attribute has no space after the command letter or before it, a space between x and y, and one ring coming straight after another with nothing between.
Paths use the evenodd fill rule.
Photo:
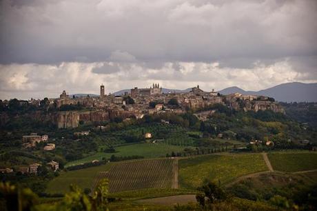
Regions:
<instances>
[{"instance_id":1,"label":"bright yellow-green vineyard plot between the two pale dirt tracks","mask_svg":"<svg viewBox=\"0 0 317 211\"><path fill-rule=\"evenodd\" d=\"M196 188L211 180L221 185L236 177L267 170L261 154L207 155L178 161L181 188Z\"/></svg>"}]
</instances>

